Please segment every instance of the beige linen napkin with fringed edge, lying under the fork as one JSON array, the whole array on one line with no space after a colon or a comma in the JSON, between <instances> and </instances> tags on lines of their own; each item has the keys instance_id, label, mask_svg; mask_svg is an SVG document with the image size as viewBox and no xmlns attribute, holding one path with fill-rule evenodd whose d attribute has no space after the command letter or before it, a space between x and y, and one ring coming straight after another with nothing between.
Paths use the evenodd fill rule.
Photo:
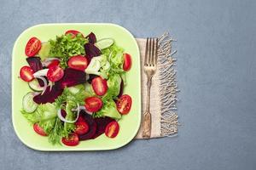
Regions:
<instances>
[{"instance_id":1,"label":"beige linen napkin with fringed edge, lying under the fork","mask_svg":"<svg viewBox=\"0 0 256 170\"><path fill-rule=\"evenodd\" d=\"M146 108L147 77L143 71L146 39L137 38L141 54L142 74L142 115ZM177 133L177 82L173 69L172 41L168 33L159 37L157 71L152 79L150 113L151 113L151 138L170 136ZM143 122L143 119L142 119ZM136 139L143 139L143 123L137 133Z\"/></svg>"}]
</instances>

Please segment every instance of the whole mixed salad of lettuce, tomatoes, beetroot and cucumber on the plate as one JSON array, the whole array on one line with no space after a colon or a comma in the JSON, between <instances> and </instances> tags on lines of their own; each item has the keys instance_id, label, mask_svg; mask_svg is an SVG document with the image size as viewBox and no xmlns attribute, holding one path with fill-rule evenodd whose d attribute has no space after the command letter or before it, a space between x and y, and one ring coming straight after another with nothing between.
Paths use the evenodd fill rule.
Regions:
<instances>
[{"instance_id":1,"label":"whole mixed salad of lettuce, tomatoes, beetroot and cucumber on the plate","mask_svg":"<svg viewBox=\"0 0 256 170\"><path fill-rule=\"evenodd\" d=\"M119 120L131 110L131 96L123 94L131 55L111 37L74 30L47 42L31 37L25 54L20 79L31 92L20 112L35 133L68 146L118 135Z\"/></svg>"}]
</instances>

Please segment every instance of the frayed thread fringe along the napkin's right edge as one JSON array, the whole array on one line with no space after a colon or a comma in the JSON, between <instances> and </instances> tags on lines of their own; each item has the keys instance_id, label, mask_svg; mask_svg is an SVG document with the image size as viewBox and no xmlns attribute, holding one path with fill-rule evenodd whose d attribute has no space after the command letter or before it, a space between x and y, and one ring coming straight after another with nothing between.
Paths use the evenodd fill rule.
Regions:
<instances>
[{"instance_id":1,"label":"frayed thread fringe along the napkin's right edge","mask_svg":"<svg viewBox=\"0 0 256 170\"><path fill-rule=\"evenodd\" d=\"M166 32L159 37L159 58L158 66L160 68L160 136L172 136L177 133L178 116L177 111L177 79L176 72L173 68L175 61L172 55L177 53L177 50L172 52L172 42L177 41L169 37Z\"/></svg>"}]
</instances>

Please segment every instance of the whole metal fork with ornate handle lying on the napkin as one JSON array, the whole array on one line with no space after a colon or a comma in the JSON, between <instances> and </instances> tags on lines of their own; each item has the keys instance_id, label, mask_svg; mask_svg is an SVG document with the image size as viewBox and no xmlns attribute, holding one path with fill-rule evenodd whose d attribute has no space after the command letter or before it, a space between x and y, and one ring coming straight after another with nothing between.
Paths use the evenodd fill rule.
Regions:
<instances>
[{"instance_id":1,"label":"whole metal fork with ornate handle lying on the napkin","mask_svg":"<svg viewBox=\"0 0 256 170\"><path fill-rule=\"evenodd\" d=\"M151 136L151 114L149 111L150 105L150 88L151 81L157 66L157 49L158 49L158 39L157 38L147 38L146 43L146 53L144 59L144 72L148 77L148 93L147 93L147 105L146 111L143 114L143 138L149 139Z\"/></svg>"}]
</instances>

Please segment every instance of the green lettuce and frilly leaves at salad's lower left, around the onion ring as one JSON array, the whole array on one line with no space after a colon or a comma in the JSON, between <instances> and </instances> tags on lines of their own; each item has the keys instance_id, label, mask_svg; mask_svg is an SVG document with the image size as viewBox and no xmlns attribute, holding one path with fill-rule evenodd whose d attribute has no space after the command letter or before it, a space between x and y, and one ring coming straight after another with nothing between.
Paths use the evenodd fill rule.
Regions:
<instances>
[{"instance_id":1,"label":"green lettuce and frilly leaves at salad's lower left, around the onion ring","mask_svg":"<svg viewBox=\"0 0 256 170\"><path fill-rule=\"evenodd\" d=\"M69 108L63 108L62 104L67 103ZM53 104L46 103L38 105L38 109L32 113L21 110L23 116L31 123L38 123L49 136L49 142L52 144L59 143L62 137L67 137L75 129L74 123L61 122L57 116L58 109L64 109L67 113L66 118L74 120L75 113L71 108L77 107L76 104L84 105L84 94L82 90L73 94L69 88L65 88L61 96L55 99Z\"/></svg>"}]
</instances>

